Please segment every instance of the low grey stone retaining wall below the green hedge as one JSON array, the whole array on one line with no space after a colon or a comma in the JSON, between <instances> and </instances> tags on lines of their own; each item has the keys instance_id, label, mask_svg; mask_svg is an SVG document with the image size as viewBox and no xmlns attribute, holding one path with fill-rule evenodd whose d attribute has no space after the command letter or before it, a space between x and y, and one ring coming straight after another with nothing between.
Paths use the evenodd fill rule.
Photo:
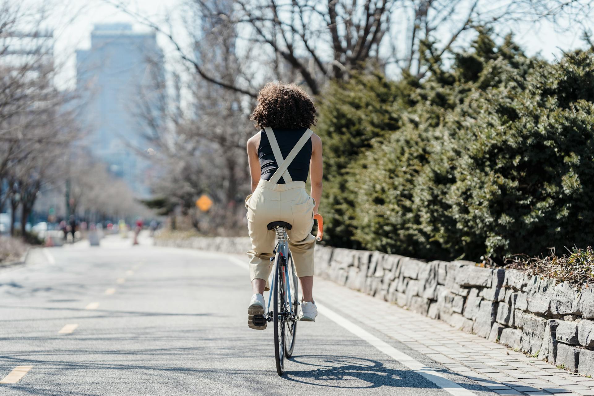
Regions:
<instances>
[{"instance_id":1,"label":"low grey stone retaining wall below the green hedge","mask_svg":"<svg viewBox=\"0 0 594 396\"><path fill-rule=\"evenodd\" d=\"M160 246L244 254L247 237L156 239ZM538 359L594 375L594 287L380 252L316 246L315 273Z\"/></svg>"}]
</instances>

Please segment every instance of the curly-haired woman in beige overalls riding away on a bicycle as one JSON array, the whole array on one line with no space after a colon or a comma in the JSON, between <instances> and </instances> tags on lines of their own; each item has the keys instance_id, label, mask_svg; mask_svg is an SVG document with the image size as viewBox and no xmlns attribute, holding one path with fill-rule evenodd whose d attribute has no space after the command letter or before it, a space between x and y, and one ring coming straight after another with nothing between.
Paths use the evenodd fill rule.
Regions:
<instances>
[{"instance_id":1,"label":"curly-haired woman in beige overalls riding away on a bicycle","mask_svg":"<svg viewBox=\"0 0 594 396\"><path fill-rule=\"evenodd\" d=\"M297 85L269 83L258 94L258 106L251 119L261 131L247 144L252 194L245 199L245 207L252 242L248 256L254 291L248 325L256 330L266 328L266 322L255 325L253 319L264 315L263 293L270 286L268 275L276 233L268 230L267 224L272 221L291 224L287 229L289 249L302 290L299 320L313 322L318 311L312 296L315 237L311 229L322 195L322 141L309 129L315 125L315 107ZM279 170L283 162L288 167ZM305 191L308 174L311 197Z\"/></svg>"}]
</instances>

